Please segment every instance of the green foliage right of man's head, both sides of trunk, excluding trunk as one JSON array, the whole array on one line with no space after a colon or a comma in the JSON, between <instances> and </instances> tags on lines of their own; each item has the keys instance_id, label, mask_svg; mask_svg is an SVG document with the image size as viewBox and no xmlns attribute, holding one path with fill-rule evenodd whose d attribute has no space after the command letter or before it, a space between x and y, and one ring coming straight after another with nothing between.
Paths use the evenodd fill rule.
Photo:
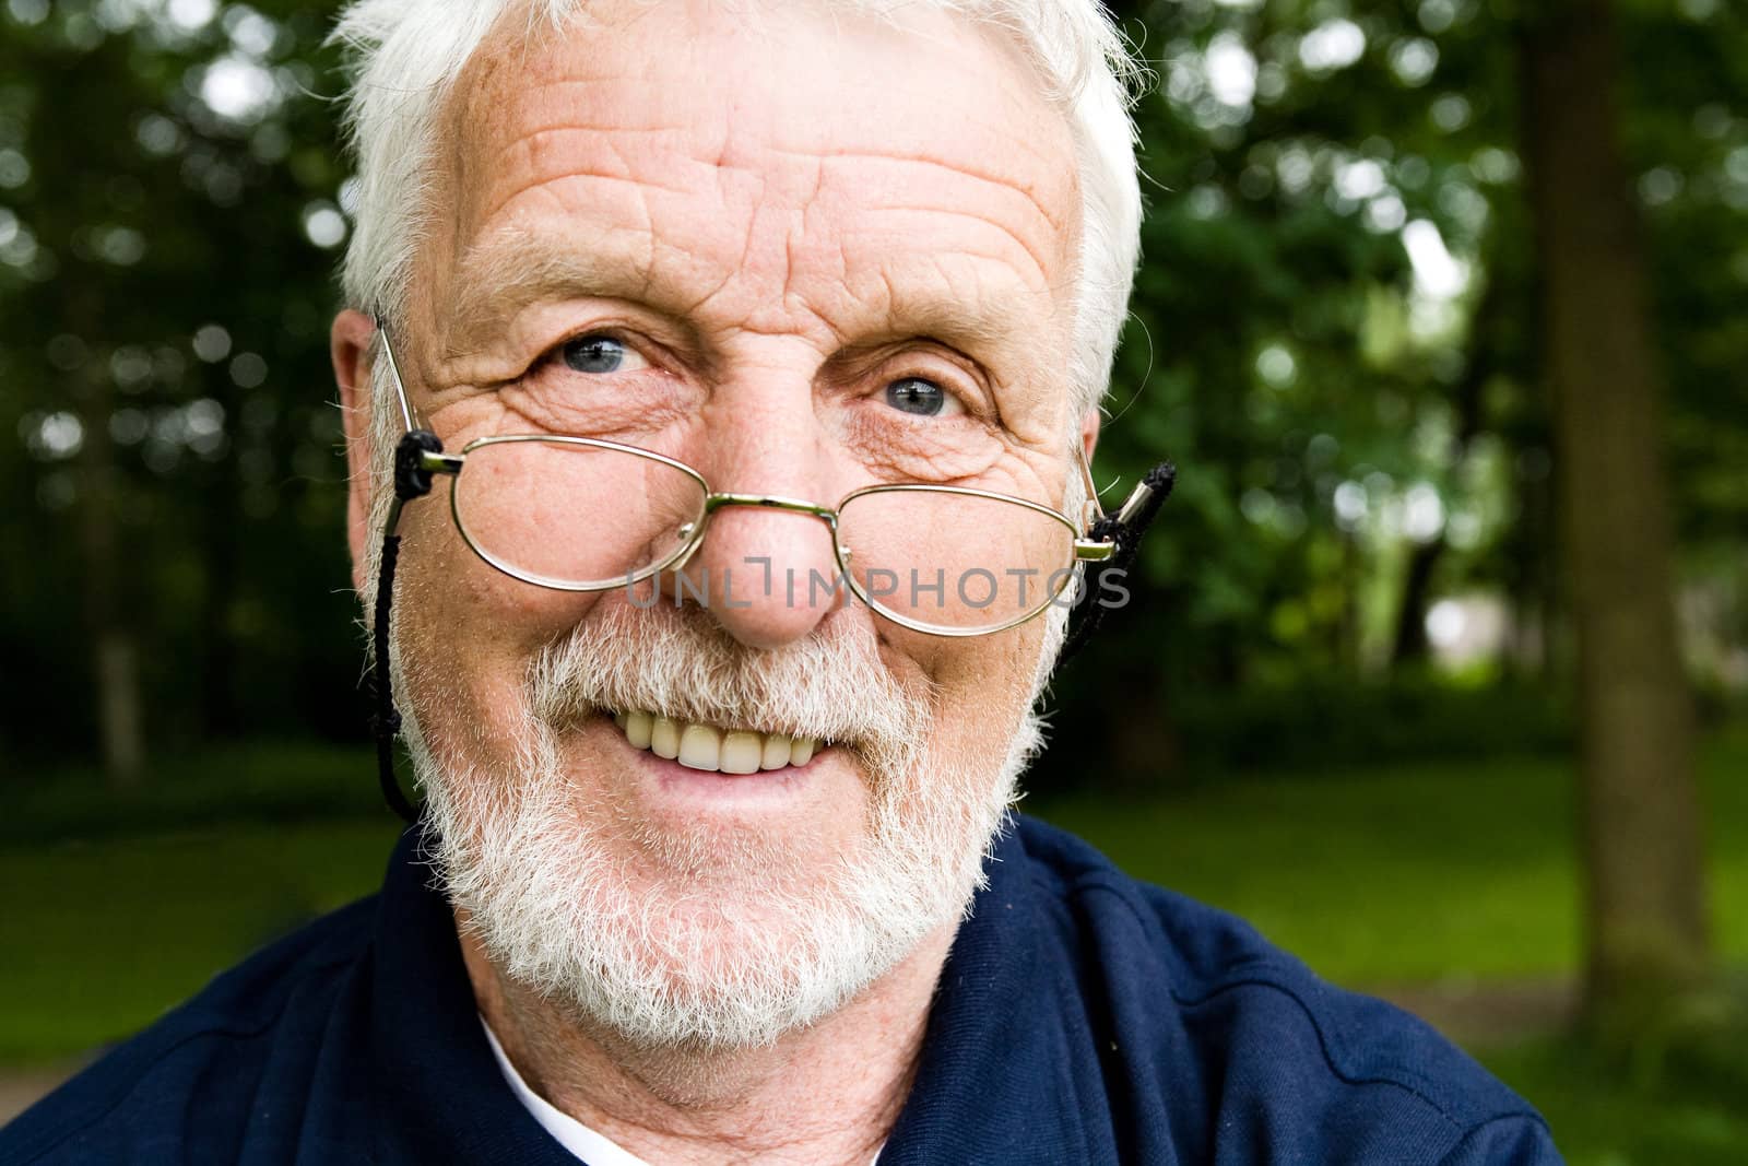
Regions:
<instances>
[{"instance_id":1,"label":"green foliage right of man's head, both sides of trunk, excluding trunk","mask_svg":"<svg viewBox=\"0 0 1748 1166\"><path fill-rule=\"evenodd\" d=\"M1398 725L1428 732L1428 755L1556 741L1535 694L1561 691L1570 647L1517 150L1517 9L1185 0L1129 12L1159 73L1138 107L1152 208L1101 465L1133 477L1169 451L1182 484L1138 601L1059 682L1058 724L1113 741L1119 764L1148 764L1122 776L1143 788L1220 755L1320 752L1304 732L1320 717L1337 759L1398 755ZM1722 711L1743 689L1748 610L1748 23L1710 3L1626 5L1620 19L1696 614L1689 657ZM1419 556L1432 566L1416 591ZM1502 718L1453 699L1449 722L1404 722L1398 706L1432 691L1402 626L1461 594L1500 598L1516 629L1493 673L1507 682ZM1409 691L1370 696L1386 677ZM1260 752L1208 757L1208 739L1245 746L1246 725ZM1166 746L1126 745L1136 736Z\"/></svg>"}]
</instances>

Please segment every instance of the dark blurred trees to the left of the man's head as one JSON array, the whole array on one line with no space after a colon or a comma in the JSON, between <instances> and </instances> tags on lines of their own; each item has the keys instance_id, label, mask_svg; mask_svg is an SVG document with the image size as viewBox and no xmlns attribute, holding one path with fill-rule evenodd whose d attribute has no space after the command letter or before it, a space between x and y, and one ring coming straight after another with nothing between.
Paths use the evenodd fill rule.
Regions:
<instances>
[{"instance_id":1,"label":"dark blurred trees to the left of the man's head","mask_svg":"<svg viewBox=\"0 0 1748 1166\"><path fill-rule=\"evenodd\" d=\"M33 551L0 573L0 643L37 678L0 711L16 750L98 743L124 774L147 734L358 732L329 19L0 5L0 418L24 455L0 523Z\"/></svg>"}]
</instances>

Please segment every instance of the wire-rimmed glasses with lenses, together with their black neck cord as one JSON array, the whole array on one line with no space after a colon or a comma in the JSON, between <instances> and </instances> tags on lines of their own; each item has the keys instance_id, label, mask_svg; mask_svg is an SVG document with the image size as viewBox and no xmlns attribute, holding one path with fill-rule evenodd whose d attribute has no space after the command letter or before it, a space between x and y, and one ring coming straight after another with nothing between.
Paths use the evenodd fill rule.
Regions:
<instances>
[{"instance_id":1,"label":"wire-rimmed glasses with lenses, together with their black neck cord","mask_svg":"<svg viewBox=\"0 0 1748 1166\"><path fill-rule=\"evenodd\" d=\"M829 587L846 584L884 619L937 636L977 636L1023 624L1059 601L1084 563L1120 577L1176 477L1171 463L1161 462L1120 510L1105 514L1092 470L1077 449L1087 495L1086 526L1080 526L1047 505L970 486L876 484L851 491L837 507L776 495L717 493L683 462L596 437L507 434L444 453L442 441L414 423L388 327L381 318L376 327L406 423L395 446L395 496L383 523L371 635L376 773L383 799L407 822L416 822L418 811L395 781L400 713L386 670L390 612L400 558L400 509L428 495L435 474L451 479L451 517L481 559L514 579L561 591L631 587L664 570L676 572L675 584L683 586L685 575L678 572L703 542L710 516L722 507L811 516L832 531L839 575L827 580ZM587 489L600 484L610 484L610 491ZM628 510L626 498L638 505ZM759 559L748 559L755 563ZM766 561L767 596L774 586L769 566ZM722 586L732 589L729 579ZM785 577L781 586L785 601L794 601L794 579ZM815 586L811 572L806 586ZM967 593L968 586L977 589ZM933 600L933 612L921 610L923 596ZM708 603L710 596L697 600ZM809 593L809 605L813 600ZM722 601L734 605L732 594ZM1070 631L1059 659L1079 650L1098 628L1103 600L1089 607L1091 614Z\"/></svg>"}]
</instances>

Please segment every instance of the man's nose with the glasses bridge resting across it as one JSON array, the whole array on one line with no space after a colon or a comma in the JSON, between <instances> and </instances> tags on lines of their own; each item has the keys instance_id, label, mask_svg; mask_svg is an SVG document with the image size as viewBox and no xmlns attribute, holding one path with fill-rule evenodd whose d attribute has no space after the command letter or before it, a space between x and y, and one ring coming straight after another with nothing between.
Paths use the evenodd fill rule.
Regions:
<instances>
[{"instance_id":1,"label":"man's nose with the glasses bridge resting across it","mask_svg":"<svg viewBox=\"0 0 1748 1166\"><path fill-rule=\"evenodd\" d=\"M755 498L832 507L811 400L787 420L748 409L711 427L711 456L699 467L718 495L704 542L675 579L675 596L710 610L729 635L774 649L813 633L848 596L820 514ZM799 413L799 416L797 416Z\"/></svg>"}]
</instances>

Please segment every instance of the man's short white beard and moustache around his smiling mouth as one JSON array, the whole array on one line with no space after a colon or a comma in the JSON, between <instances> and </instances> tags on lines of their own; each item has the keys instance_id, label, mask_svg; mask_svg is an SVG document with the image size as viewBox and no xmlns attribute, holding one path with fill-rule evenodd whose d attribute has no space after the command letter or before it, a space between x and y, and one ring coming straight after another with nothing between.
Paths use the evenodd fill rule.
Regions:
<instances>
[{"instance_id":1,"label":"man's short white beard and moustache around his smiling mouth","mask_svg":"<svg viewBox=\"0 0 1748 1166\"><path fill-rule=\"evenodd\" d=\"M1052 612L1045 661L1065 624ZM535 661L503 769L434 750L411 715L407 739L442 885L500 974L635 1047L725 1051L832 1014L967 913L1042 739L1030 698L991 710L988 729L1012 725L984 736L1000 755L937 757L928 694L865 626L757 652L708 614L615 605ZM841 743L869 790L855 853L822 876L806 843L615 813L559 743L580 715L633 708Z\"/></svg>"}]
</instances>

